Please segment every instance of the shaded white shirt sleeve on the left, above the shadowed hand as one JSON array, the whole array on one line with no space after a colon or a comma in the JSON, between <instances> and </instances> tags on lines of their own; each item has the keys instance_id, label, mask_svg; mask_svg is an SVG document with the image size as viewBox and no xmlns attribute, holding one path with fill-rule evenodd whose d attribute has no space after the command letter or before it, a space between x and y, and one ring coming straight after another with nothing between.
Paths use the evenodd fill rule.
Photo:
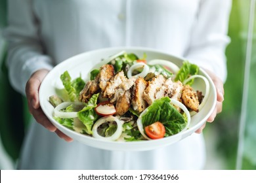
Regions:
<instances>
[{"instance_id":1,"label":"shaded white shirt sleeve on the left, above the shadowed hand","mask_svg":"<svg viewBox=\"0 0 256 183\"><path fill-rule=\"evenodd\" d=\"M51 58L43 54L31 0L8 1L8 26L3 35L9 46L7 67L11 85L25 94L26 82L35 71L53 68Z\"/></svg>"}]
</instances>

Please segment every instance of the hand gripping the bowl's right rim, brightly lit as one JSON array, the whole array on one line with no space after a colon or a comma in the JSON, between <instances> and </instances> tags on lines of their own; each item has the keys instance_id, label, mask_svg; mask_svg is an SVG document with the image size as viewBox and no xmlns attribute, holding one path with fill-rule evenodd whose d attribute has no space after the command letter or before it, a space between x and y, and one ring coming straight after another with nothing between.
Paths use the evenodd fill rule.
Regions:
<instances>
[{"instance_id":1,"label":"hand gripping the bowl's right rim, brightly lit","mask_svg":"<svg viewBox=\"0 0 256 183\"><path fill-rule=\"evenodd\" d=\"M223 82L218 76L216 76L214 73L212 73L211 71L209 71L207 69L204 69L204 70L207 72L207 74L213 80L213 83L215 84L215 88L216 88L216 92L217 92L217 103L216 103L215 109L213 110L213 113L211 114L211 116L209 116L209 118L207 119L207 122L211 123L211 122L213 122L213 120L215 119L217 114L223 110L224 88L223 88ZM200 129L198 129L196 131L196 133L202 133L205 125L206 125L206 123L203 124L202 127L200 127Z\"/></svg>"}]
</instances>

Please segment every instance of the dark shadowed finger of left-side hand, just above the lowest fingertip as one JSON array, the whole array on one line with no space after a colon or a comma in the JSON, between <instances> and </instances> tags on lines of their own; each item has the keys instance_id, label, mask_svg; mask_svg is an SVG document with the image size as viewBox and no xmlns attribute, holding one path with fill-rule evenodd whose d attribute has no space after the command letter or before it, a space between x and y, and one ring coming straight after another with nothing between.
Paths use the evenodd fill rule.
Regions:
<instances>
[{"instance_id":1,"label":"dark shadowed finger of left-side hand, just above the lowest fingertip","mask_svg":"<svg viewBox=\"0 0 256 183\"><path fill-rule=\"evenodd\" d=\"M32 109L32 115L35 118L35 120L39 124L43 125L46 129L48 129L49 131L56 131L56 127L49 121L47 116L45 116L41 108Z\"/></svg>"}]
</instances>

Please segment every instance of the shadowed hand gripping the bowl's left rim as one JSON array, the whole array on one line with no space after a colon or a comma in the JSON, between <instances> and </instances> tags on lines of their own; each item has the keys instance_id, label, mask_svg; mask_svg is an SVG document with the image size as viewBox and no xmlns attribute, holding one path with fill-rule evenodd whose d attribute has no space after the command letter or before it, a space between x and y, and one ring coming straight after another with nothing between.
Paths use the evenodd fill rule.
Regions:
<instances>
[{"instance_id":1,"label":"shadowed hand gripping the bowl's left rim","mask_svg":"<svg viewBox=\"0 0 256 183\"><path fill-rule=\"evenodd\" d=\"M26 96L28 100L28 108L30 110L30 113L33 115L35 120L43 125L46 129L49 131L55 132L58 137L64 139L67 142L73 141L70 137L62 133L60 130L58 130L45 116L43 110L40 107L39 104L39 87L41 85L41 82L43 81L43 78L49 73L46 69L40 69L38 71L35 71L33 75L30 77L26 84Z\"/></svg>"}]
</instances>

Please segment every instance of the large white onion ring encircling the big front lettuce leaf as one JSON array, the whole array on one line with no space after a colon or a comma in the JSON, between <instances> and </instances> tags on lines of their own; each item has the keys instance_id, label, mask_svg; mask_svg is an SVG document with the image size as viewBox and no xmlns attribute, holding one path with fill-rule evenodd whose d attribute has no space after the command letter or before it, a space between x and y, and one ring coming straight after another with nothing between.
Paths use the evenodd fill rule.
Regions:
<instances>
[{"instance_id":1,"label":"large white onion ring encircling the big front lettuce leaf","mask_svg":"<svg viewBox=\"0 0 256 183\"><path fill-rule=\"evenodd\" d=\"M186 123L186 127L184 127L184 129L182 129L182 131L185 131L186 129L188 129L189 125L190 125L190 121L191 121L191 117L190 117L190 113L188 111L188 109L179 101L175 100L175 99L171 99L170 103L172 105L175 105L177 107L180 107L186 114L187 118L188 118L188 122ZM150 139L148 136L146 136L146 134L144 133L144 127L142 125L142 116L147 112L147 108L140 114L138 120L137 120L137 125L139 128L139 131L141 133L141 135L148 140L152 140ZM181 133L181 131L179 132Z\"/></svg>"}]
</instances>

